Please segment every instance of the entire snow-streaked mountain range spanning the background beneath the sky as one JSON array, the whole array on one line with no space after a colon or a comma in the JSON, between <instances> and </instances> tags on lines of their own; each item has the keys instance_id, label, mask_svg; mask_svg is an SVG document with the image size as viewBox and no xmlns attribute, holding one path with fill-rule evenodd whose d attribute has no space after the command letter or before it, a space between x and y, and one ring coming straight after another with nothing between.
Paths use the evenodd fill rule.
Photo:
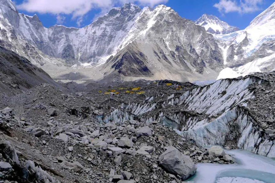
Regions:
<instances>
[{"instance_id":1,"label":"entire snow-streaked mountain range spanning the background beneath the sky","mask_svg":"<svg viewBox=\"0 0 275 183\"><path fill-rule=\"evenodd\" d=\"M261 17L272 15L272 7ZM267 24L211 35L205 22L214 21L220 33L237 29L215 16L202 16L197 21L205 24L201 27L165 5L141 9L124 4L81 29L45 28L37 15L20 14L10 0L1 0L0 45L56 80L68 81L72 75L84 81L201 81L274 69L273 16L256 19Z\"/></svg>"}]
</instances>

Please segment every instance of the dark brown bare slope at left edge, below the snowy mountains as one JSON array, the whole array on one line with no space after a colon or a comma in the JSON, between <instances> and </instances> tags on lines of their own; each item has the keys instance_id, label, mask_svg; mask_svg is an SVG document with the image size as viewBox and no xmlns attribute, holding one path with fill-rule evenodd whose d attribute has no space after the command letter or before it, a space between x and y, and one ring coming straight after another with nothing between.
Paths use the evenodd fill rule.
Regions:
<instances>
[{"instance_id":1,"label":"dark brown bare slope at left edge, below the snowy mountains","mask_svg":"<svg viewBox=\"0 0 275 183\"><path fill-rule=\"evenodd\" d=\"M0 92L18 94L40 83L58 86L41 68L16 53L0 46Z\"/></svg>"}]
</instances>

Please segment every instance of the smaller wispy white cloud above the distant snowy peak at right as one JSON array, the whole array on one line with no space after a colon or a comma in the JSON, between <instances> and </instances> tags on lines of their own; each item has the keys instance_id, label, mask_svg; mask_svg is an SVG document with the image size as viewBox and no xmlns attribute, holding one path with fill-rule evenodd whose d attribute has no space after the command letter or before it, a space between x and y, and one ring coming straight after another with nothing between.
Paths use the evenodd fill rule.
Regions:
<instances>
[{"instance_id":1,"label":"smaller wispy white cloud above the distant snowy peak at right","mask_svg":"<svg viewBox=\"0 0 275 183\"><path fill-rule=\"evenodd\" d=\"M263 0L219 0L214 7L221 13L252 13L260 10L260 5L262 3Z\"/></svg>"}]
</instances>

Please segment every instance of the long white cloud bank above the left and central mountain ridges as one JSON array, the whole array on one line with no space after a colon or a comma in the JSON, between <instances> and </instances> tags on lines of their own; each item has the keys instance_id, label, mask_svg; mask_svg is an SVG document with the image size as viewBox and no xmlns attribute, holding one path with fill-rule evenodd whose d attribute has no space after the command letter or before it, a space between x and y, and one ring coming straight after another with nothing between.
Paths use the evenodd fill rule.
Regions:
<instances>
[{"instance_id":1,"label":"long white cloud bank above the left and central mountain ridges","mask_svg":"<svg viewBox=\"0 0 275 183\"><path fill-rule=\"evenodd\" d=\"M57 22L62 22L63 20L60 15L72 15L72 19L77 20L77 24L80 26L83 16L90 10L100 9L100 15L102 15L115 5L122 5L128 2L143 6L154 6L166 3L168 0L25 0L22 4L17 5L17 8L32 13L55 14L57 15Z\"/></svg>"}]
</instances>

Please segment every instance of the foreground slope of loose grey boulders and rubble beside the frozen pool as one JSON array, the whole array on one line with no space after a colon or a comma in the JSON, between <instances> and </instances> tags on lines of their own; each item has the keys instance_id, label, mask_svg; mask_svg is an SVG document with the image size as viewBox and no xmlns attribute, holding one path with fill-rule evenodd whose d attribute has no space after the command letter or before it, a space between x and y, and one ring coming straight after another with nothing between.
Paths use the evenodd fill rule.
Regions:
<instances>
[{"instance_id":1,"label":"foreground slope of loose grey boulders and rubble beside the frozen pool","mask_svg":"<svg viewBox=\"0 0 275 183\"><path fill-rule=\"evenodd\" d=\"M1 110L3 182L182 182L197 162L233 163L221 148L213 154L156 122L63 122L53 107L39 110L43 123Z\"/></svg>"}]
</instances>

